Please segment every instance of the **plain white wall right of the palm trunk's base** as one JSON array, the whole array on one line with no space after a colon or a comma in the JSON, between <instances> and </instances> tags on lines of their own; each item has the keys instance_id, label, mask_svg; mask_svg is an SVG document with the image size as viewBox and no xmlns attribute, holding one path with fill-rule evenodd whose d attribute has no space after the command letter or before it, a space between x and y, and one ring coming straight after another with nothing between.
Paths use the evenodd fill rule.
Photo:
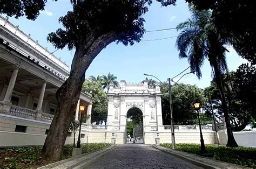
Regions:
<instances>
[{"instance_id":1,"label":"plain white wall right of the palm trunk's base","mask_svg":"<svg viewBox=\"0 0 256 169\"><path fill-rule=\"evenodd\" d=\"M233 135L239 146L256 147L256 131L233 132Z\"/></svg>"}]
</instances>

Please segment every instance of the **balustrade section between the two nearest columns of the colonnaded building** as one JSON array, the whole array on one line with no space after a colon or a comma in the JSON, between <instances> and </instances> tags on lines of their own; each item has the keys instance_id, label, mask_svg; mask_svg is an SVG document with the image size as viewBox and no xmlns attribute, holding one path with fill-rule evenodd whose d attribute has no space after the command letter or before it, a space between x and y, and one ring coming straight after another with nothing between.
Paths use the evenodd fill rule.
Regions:
<instances>
[{"instance_id":1,"label":"balustrade section between the two nearest columns of the colonnaded building","mask_svg":"<svg viewBox=\"0 0 256 169\"><path fill-rule=\"evenodd\" d=\"M18 107L16 105L12 105L11 109L10 109L10 114L13 114L13 115L19 116L19 117L26 117L26 118L34 119L35 116L36 116L36 111L31 110L31 109Z\"/></svg>"}]
</instances>

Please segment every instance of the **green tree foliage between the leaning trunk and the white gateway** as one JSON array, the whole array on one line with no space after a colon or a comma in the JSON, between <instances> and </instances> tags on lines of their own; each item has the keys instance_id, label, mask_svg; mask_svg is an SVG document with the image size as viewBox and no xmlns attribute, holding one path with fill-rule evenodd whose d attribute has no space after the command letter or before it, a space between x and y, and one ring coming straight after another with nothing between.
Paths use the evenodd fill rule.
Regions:
<instances>
[{"instance_id":1,"label":"green tree foliage between the leaning trunk and the white gateway","mask_svg":"<svg viewBox=\"0 0 256 169\"><path fill-rule=\"evenodd\" d=\"M90 78L84 81L82 91L87 91L92 94L92 117L107 114L107 95L102 88L102 85ZM93 121L93 118L92 118Z\"/></svg>"}]
</instances>

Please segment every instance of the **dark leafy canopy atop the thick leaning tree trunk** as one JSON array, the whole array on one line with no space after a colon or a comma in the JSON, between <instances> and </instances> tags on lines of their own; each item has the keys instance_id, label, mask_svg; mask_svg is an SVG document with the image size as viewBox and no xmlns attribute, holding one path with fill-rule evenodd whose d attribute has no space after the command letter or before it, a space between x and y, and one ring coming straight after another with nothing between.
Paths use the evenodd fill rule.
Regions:
<instances>
[{"instance_id":1,"label":"dark leafy canopy atop the thick leaning tree trunk","mask_svg":"<svg viewBox=\"0 0 256 169\"><path fill-rule=\"evenodd\" d=\"M117 34L117 43L133 45L143 37L144 22L142 17L148 11L151 0L98 1L85 0L73 4L73 11L68 11L59 18L64 29L58 29L48 35L48 40L56 47L88 47L92 41L105 33Z\"/></svg>"}]
</instances>

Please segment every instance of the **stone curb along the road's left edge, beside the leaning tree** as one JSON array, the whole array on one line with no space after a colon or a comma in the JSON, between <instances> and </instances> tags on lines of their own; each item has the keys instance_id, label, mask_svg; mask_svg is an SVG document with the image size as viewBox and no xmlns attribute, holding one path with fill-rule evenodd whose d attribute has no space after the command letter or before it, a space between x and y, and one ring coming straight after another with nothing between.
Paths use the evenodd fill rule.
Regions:
<instances>
[{"instance_id":1,"label":"stone curb along the road's left edge, beside the leaning tree","mask_svg":"<svg viewBox=\"0 0 256 169\"><path fill-rule=\"evenodd\" d=\"M51 163L51 164L48 164L48 165L45 165L45 166L42 166L42 167L38 167L38 169L57 167L57 166L62 165L62 164L64 164L64 163L66 163L66 162L69 162L69 161L72 161L72 160L76 160L76 159L78 159L78 158L87 156L88 154L95 153L95 152L100 151L100 150L104 150L104 149L105 149L104 152L107 152L107 151L109 151L109 150L114 149L114 147L116 147L116 146L117 146L117 145L109 145L109 146L103 147L102 149L98 149L98 150L95 150L95 151L83 153L83 154L80 154L80 155L75 156L75 157L71 157L71 158L64 159L64 160L60 160L60 161L57 161L57 162L55 162L55 163ZM104 152L103 152L103 153L104 153Z\"/></svg>"}]
</instances>

